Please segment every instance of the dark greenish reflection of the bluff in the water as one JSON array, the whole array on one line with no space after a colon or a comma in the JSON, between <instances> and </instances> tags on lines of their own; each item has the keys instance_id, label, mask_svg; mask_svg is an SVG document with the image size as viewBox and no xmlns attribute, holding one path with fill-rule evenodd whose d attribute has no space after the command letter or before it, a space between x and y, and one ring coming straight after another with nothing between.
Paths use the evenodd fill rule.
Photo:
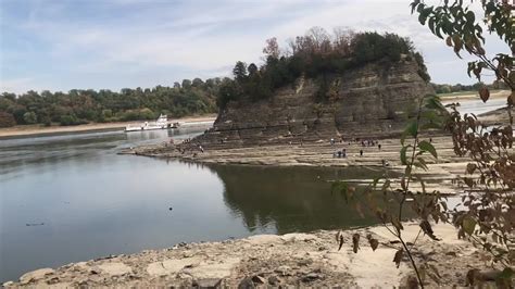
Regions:
<instances>
[{"instance_id":1,"label":"dark greenish reflection of the bluff in the water","mask_svg":"<svg viewBox=\"0 0 515 289\"><path fill-rule=\"evenodd\" d=\"M224 184L224 200L255 229L273 226L279 234L316 229L350 228L377 224L366 213L361 217L354 203L330 193L334 179L373 178L367 168L211 166ZM381 202L380 198L377 198Z\"/></svg>"}]
</instances>

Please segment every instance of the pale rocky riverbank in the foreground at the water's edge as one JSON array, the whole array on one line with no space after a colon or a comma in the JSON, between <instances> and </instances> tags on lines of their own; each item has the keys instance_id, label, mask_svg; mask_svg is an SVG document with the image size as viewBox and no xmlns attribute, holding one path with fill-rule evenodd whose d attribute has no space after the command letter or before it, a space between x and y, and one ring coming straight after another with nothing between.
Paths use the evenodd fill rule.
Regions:
<instances>
[{"instance_id":1,"label":"pale rocky riverbank in the foreground at the water's edge","mask_svg":"<svg viewBox=\"0 0 515 289\"><path fill-rule=\"evenodd\" d=\"M338 250L337 231L312 234L259 235L222 242L179 243L163 250L108 256L72 263L56 269L27 273L16 287L398 287L413 269L406 255L399 268L392 262L400 248L382 226L343 231L344 243ZM434 241L419 233L416 224L405 226L404 236L416 240L414 257L425 264L426 281L432 286L466 286L472 268L486 268L483 252L457 239L451 225L435 225ZM357 253L352 235L360 234ZM366 236L379 241L373 251ZM438 267L437 271L430 269ZM436 284L430 276L436 276Z\"/></svg>"}]
</instances>

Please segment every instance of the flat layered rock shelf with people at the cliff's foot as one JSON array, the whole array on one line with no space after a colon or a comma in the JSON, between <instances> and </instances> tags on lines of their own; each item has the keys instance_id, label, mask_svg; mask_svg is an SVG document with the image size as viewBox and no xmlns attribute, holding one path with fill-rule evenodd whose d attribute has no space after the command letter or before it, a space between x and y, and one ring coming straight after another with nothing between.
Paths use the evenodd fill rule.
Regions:
<instances>
[{"instance_id":1,"label":"flat layered rock shelf with people at the cliff's foot","mask_svg":"<svg viewBox=\"0 0 515 289\"><path fill-rule=\"evenodd\" d=\"M438 152L438 160L427 154L428 171L416 169L416 174L423 176L426 189L439 190L445 194L456 193L461 188L454 184L459 175L465 173L469 159L456 156L450 136L425 136L423 139L430 140ZM146 155L164 159L178 159L187 162L239 164L239 165L274 165L274 166L367 166L376 171L388 169L392 172L391 184L400 187L400 179L395 173L402 174L404 166L401 164L399 152L401 143L398 138L380 139L381 144L363 147L361 142L337 142L334 146L329 141L309 143L291 143L244 148L202 148L203 152L194 143L188 146L172 146L166 143L143 146L122 151L123 154ZM334 152L346 149L347 158L335 158ZM363 151L363 155L360 155ZM384 163L386 164L384 166ZM372 179L360 179L363 185L372 183ZM417 184L413 189L420 189Z\"/></svg>"}]
</instances>

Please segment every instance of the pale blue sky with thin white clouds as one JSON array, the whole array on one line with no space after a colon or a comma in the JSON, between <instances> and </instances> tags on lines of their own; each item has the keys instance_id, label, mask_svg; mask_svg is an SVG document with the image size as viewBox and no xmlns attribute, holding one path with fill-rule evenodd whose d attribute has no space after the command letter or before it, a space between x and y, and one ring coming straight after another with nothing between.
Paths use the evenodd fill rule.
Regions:
<instances>
[{"instance_id":1,"label":"pale blue sky with thin white clouds","mask_svg":"<svg viewBox=\"0 0 515 289\"><path fill-rule=\"evenodd\" d=\"M0 0L0 92L120 90L230 76L236 61L262 63L266 39L277 37L285 48L313 26L407 36L432 81L475 83L466 74L470 58L457 59L422 26L410 2ZM493 36L487 43L487 52L507 50Z\"/></svg>"}]
</instances>

